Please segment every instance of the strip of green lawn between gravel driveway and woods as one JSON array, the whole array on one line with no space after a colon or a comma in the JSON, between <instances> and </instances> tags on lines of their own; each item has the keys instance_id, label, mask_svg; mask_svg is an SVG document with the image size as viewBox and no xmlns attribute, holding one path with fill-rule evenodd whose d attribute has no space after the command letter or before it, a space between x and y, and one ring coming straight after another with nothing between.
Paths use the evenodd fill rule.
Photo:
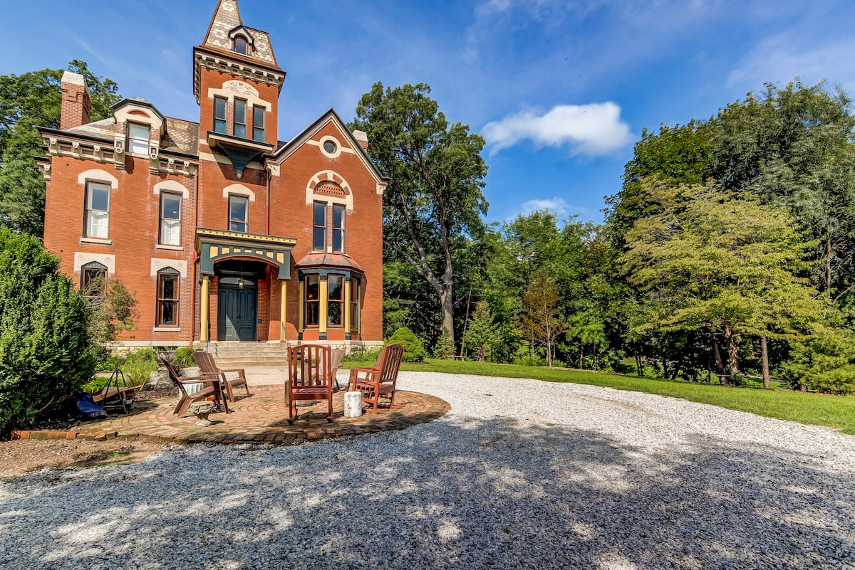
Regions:
<instances>
[{"instance_id":1,"label":"strip of green lawn between gravel driveway and woods","mask_svg":"<svg viewBox=\"0 0 855 570\"><path fill-rule=\"evenodd\" d=\"M345 363L345 368L370 366L374 362ZM787 390L761 390L756 388L723 387L713 384L693 384L682 381L654 380L602 372L584 370L548 369L534 366L516 366L512 364L489 364L476 362L458 362L453 360L435 360L428 358L427 363L407 364L404 370L419 372L446 372L449 374L471 374L483 376L504 376L505 378L534 378L549 382L573 382L575 384L593 384L618 390L645 392L682 398L691 402L712 404L758 414L828 426L840 429L844 433L855 434L855 398L852 396L830 396L827 394L799 393Z\"/></svg>"}]
</instances>

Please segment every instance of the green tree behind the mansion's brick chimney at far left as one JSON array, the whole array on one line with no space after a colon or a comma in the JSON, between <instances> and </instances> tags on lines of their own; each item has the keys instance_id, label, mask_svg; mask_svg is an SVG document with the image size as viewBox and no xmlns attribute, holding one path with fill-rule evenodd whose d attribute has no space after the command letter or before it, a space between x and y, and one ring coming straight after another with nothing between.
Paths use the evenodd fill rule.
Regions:
<instances>
[{"instance_id":1,"label":"green tree behind the mansion's brick chimney at far left","mask_svg":"<svg viewBox=\"0 0 855 570\"><path fill-rule=\"evenodd\" d=\"M104 119L121 99L111 79L95 76L85 61L68 70L83 75L91 91L91 120ZM41 236L44 230L44 179L33 156L42 154L36 126L59 128L62 69L0 75L0 224Z\"/></svg>"}]
</instances>

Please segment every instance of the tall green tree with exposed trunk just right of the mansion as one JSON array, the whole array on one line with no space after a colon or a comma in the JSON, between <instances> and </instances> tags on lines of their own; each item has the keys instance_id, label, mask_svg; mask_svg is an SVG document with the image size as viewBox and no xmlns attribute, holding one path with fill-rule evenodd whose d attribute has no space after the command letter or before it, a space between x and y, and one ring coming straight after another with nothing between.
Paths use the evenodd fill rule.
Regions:
<instances>
[{"instance_id":1,"label":"tall green tree with exposed trunk just right of the mansion","mask_svg":"<svg viewBox=\"0 0 855 570\"><path fill-rule=\"evenodd\" d=\"M478 236L486 214L484 139L450 124L427 84L376 83L352 128L369 135L369 156L390 178L383 200L384 245L412 265L439 300L442 334L454 336L456 253Z\"/></svg>"}]
</instances>

